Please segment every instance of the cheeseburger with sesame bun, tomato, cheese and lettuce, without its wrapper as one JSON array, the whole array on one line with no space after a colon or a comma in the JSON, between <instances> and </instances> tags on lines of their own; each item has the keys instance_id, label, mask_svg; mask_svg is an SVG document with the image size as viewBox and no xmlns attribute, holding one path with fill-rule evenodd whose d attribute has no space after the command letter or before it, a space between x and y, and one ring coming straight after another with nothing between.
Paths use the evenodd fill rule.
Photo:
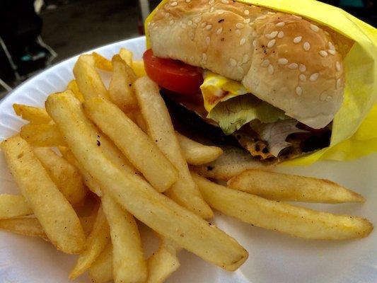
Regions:
<instances>
[{"instance_id":1,"label":"cheeseburger with sesame bun, tomato, cheese and lettuce, without its wrapper","mask_svg":"<svg viewBox=\"0 0 377 283\"><path fill-rule=\"evenodd\" d=\"M168 1L147 28L146 73L180 127L262 161L330 144L344 93L335 31L228 0Z\"/></svg>"}]
</instances>

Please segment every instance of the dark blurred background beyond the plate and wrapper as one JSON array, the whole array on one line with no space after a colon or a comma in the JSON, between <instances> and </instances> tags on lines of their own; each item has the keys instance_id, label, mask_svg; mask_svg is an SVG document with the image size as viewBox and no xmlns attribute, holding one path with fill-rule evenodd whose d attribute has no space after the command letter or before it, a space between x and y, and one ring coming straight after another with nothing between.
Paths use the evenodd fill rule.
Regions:
<instances>
[{"instance_id":1,"label":"dark blurred background beyond the plate and wrapper","mask_svg":"<svg viewBox=\"0 0 377 283\"><path fill-rule=\"evenodd\" d=\"M300 1L300 0L297 0ZM0 0L0 99L75 54L143 35L149 0ZM323 1L377 26L374 0Z\"/></svg>"}]
</instances>

